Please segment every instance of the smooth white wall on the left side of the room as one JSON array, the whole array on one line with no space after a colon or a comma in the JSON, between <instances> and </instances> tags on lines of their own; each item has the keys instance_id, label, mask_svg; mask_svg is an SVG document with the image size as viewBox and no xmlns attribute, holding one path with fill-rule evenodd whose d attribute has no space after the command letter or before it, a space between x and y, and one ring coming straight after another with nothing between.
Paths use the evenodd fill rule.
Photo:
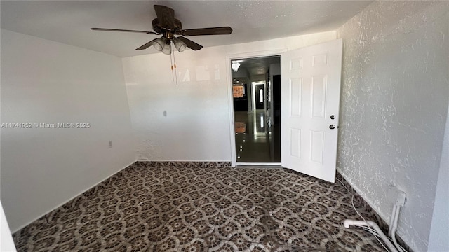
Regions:
<instances>
[{"instance_id":1,"label":"smooth white wall on the left side of the room","mask_svg":"<svg viewBox=\"0 0 449 252\"><path fill-rule=\"evenodd\" d=\"M1 129L13 232L135 160L119 57L1 29L1 123L91 124Z\"/></svg>"}]
</instances>

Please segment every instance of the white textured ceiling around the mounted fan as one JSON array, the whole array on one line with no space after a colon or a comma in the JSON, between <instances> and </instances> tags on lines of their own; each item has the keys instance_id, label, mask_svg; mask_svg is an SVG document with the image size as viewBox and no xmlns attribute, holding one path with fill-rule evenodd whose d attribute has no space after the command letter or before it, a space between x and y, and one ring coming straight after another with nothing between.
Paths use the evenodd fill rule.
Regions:
<instances>
[{"instance_id":1,"label":"white textured ceiling around the mounted fan","mask_svg":"<svg viewBox=\"0 0 449 252\"><path fill-rule=\"evenodd\" d=\"M154 4L175 10L184 29L230 26L231 35L190 36L201 45L229 45L340 27L371 1L1 1L1 27L119 57L155 35L91 31L91 27L152 31Z\"/></svg>"}]
</instances>

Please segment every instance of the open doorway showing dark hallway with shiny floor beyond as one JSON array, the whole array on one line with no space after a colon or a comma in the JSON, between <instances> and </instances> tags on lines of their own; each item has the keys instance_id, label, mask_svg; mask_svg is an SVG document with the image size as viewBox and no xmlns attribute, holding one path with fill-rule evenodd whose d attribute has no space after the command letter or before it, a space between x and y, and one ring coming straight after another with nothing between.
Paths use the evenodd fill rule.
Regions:
<instances>
[{"instance_id":1,"label":"open doorway showing dark hallway with shiny floor beyond","mask_svg":"<svg viewBox=\"0 0 449 252\"><path fill-rule=\"evenodd\" d=\"M281 56L230 64L236 165L280 165Z\"/></svg>"}]
</instances>

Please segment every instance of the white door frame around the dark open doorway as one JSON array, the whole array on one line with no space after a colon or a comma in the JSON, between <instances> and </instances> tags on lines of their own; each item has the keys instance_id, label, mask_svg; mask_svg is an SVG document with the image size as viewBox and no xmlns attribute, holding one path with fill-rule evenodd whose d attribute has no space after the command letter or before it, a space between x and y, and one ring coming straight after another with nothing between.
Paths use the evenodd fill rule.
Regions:
<instances>
[{"instance_id":1,"label":"white door frame around the dark open doorway","mask_svg":"<svg viewBox=\"0 0 449 252\"><path fill-rule=\"evenodd\" d=\"M251 59L257 57L269 57L269 56L279 56L282 57L282 52L287 52L288 48L278 49L278 50L265 50L260 52L242 52L238 54L232 54L226 56L226 70L227 70L227 97L228 97L228 107L229 107L229 132L230 132L230 143L231 143L231 166L236 167L237 157L236 157L236 132L234 128L234 97L232 96L232 68L231 61L236 59ZM244 165L281 165L281 163L243 163ZM243 165L242 164L242 165Z\"/></svg>"}]
</instances>

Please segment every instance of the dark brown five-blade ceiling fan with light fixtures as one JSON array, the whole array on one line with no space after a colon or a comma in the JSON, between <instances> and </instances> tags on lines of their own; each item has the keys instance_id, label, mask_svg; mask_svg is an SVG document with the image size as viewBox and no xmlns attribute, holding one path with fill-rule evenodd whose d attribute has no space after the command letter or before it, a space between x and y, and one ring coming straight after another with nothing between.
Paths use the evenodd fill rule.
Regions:
<instances>
[{"instance_id":1,"label":"dark brown five-blade ceiling fan with light fixtures","mask_svg":"<svg viewBox=\"0 0 449 252\"><path fill-rule=\"evenodd\" d=\"M145 50L150 46L154 46L156 50L159 50L167 55L172 52L172 43L178 52L182 52L186 47L192 50L200 50L202 45L191 41L184 36L203 36L203 35L221 35L231 34L231 27L211 27L200 29L182 29L180 20L175 18L175 10L166 6L155 5L157 18L154 18L153 30L154 31L136 31L128 29L107 29L107 28L91 28L94 31L125 31L125 32L138 32L145 34L162 35L161 38L155 38L145 45L140 46L135 50ZM176 37L176 36L177 37Z\"/></svg>"}]
</instances>

